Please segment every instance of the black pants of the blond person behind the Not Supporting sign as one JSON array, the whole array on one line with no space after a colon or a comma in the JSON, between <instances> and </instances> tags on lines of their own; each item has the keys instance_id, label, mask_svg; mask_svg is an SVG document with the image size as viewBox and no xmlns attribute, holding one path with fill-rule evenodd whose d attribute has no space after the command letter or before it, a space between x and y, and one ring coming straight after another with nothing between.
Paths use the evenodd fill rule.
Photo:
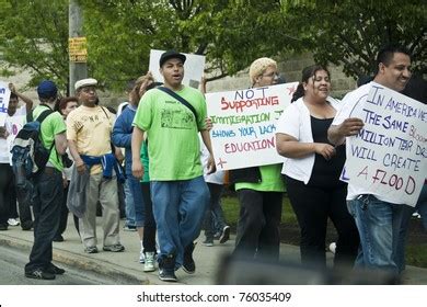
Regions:
<instances>
[{"instance_id":1,"label":"black pants of the blond person behind the Not Supporting sign","mask_svg":"<svg viewBox=\"0 0 427 307\"><path fill-rule=\"evenodd\" d=\"M234 254L277 261L282 193L243 189L238 196L240 215Z\"/></svg>"}]
</instances>

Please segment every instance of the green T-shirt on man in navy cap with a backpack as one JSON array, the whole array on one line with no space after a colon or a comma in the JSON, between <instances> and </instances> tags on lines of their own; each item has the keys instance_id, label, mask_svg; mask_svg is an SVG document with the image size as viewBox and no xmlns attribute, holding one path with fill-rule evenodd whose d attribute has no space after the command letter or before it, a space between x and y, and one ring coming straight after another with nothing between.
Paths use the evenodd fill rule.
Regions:
<instances>
[{"instance_id":1,"label":"green T-shirt on man in navy cap with a backpack","mask_svg":"<svg viewBox=\"0 0 427 307\"><path fill-rule=\"evenodd\" d=\"M47 110L47 106L44 105L37 105L36 109L33 111L33 117L36 120L43 111ZM66 123L64 122L62 116L58 112L54 112L49 114L42 123L41 133L42 133L42 140L43 145L50 149L53 147L55 135L65 133L67 129ZM54 166L57 170L62 171L62 159L60 155L56 151L55 145L51 148L50 156L49 156L49 162L51 166Z\"/></svg>"}]
</instances>

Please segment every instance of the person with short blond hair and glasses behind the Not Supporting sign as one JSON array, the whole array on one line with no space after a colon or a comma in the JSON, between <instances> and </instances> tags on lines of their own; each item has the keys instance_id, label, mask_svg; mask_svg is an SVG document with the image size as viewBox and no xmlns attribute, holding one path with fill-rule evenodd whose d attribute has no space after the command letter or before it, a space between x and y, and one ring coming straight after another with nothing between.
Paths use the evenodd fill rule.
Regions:
<instances>
[{"instance_id":1,"label":"person with short blond hair and glasses behind the Not Supporting sign","mask_svg":"<svg viewBox=\"0 0 427 307\"><path fill-rule=\"evenodd\" d=\"M253 88L277 84L277 64L258 58L250 68ZM234 254L278 261L281 202L285 185L281 164L252 167L230 171L240 203Z\"/></svg>"}]
</instances>

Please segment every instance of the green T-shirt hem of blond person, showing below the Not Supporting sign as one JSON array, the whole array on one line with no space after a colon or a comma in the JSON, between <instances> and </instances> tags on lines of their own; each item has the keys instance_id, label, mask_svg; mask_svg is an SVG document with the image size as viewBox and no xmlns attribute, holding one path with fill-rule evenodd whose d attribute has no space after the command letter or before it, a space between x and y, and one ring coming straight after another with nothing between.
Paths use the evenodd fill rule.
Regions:
<instances>
[{"instance_id":1,"label":"green T-shirt hem of blond person, showing below the Not Supporting sign","mask_svg":"<svg viewBox=\"0 0 427 307\"><path fill-rule=\"evenodd\" d=\"M259 192L285 192L285 183L281 179L281 164L259 167L261 182L235 183L235 190L250 189Z\"/></svg>"}]
</instances>

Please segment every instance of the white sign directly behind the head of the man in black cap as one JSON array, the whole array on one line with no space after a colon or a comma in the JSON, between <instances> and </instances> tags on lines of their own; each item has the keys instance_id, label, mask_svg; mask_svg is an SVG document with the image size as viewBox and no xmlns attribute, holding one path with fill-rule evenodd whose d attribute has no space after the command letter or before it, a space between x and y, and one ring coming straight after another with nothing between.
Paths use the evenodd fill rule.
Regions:
<instances>
[{"instance_id":1,"label":"white sign directly behind the head of the man in black cap","mask_svg":"<svg viewBox=\"0 0 427 307\"><path fill-rule=\"evenodd\" d=\"M160 73L159 60L160 56L164 50L151 49L150 52L150 65L149 70L151 71L154 80L158 82L163 82L163 76ZM205 56L184 54L186 60L184 64L184 79L183 84L189 86L197 89L200 84L201 77L205 71Z\"/></svg>"}]
</instances>

